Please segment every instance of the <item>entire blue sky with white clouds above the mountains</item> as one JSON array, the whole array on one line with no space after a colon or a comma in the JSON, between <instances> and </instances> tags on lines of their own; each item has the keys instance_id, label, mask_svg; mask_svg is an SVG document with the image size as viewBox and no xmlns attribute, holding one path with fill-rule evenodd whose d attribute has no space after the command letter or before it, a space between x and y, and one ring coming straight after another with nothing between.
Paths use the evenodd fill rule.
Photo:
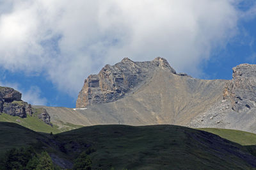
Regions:
<instances>
[{"instance_id":1,"label":"entire blue sky with white clouds above the mountains","mask_svg":"<svg viewBox=\"0 0 256 170\"><path fill-rule=\"evenodd\" d=\"M88 75L128 57L232 79L256 64L253 0L0 0L0 86L33 105L75 107Z\"/></svg>"}]
</instances>

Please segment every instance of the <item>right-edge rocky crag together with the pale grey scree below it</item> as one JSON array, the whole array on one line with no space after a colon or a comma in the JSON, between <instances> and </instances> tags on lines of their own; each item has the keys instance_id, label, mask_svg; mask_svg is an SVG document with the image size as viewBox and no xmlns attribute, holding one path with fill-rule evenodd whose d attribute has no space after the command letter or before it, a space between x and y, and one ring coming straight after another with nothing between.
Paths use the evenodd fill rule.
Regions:
<instances>
[{"instance_id":1,"label":"right-edge rocky crag together with the pale grey scree below it","mask_svg":"<svg viewBox=\"0 0 256 170\"><path fill-rule=\"evenodd\" d=\"M188 127L256 132L256 65L241 64L232 70L232 80L223 89L223 100L198 114Z\"/></svg>"}]
</instances>

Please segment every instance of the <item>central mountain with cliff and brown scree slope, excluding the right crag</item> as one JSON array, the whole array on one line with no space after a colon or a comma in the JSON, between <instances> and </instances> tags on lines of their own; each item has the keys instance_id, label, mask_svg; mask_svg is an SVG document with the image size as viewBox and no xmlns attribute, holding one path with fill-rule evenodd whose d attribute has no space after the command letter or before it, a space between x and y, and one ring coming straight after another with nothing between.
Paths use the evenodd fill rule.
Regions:
<instances>
[{"instance_id":1,"label":"central mountain with cliff and brown scree slope, excluding the right crag","mask_svg":"<svg viewBox=\"0 0 256 170\"><path fill-rule=\"evenodd\" d=\"M98 75L90 75L84 81L77 107L87 109L44 108L52 122L187 125L200 112L222 100L227 82L176 73L163 58L145 62L124 58L114 66L104 66Z\"/></svg>"}]
</instances>

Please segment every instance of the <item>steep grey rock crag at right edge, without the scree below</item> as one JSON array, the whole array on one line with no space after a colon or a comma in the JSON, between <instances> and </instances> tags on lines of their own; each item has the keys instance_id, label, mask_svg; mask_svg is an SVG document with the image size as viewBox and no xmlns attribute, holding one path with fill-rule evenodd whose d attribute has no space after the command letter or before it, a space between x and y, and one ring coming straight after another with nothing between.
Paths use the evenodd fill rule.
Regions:
<instances>
[{"instance_id":1,"label":"steep grey rock crag at right edge, without the scree below","mask_svg":"<svg viewBox=\"0 0 256 170\"><path fill-rule=\"evenodd\" d=\"M231 101L232 109L236 112L256 107L256 65L234 67L233 79L227 83L223 97Z\"/></svg>"}]
</instances>

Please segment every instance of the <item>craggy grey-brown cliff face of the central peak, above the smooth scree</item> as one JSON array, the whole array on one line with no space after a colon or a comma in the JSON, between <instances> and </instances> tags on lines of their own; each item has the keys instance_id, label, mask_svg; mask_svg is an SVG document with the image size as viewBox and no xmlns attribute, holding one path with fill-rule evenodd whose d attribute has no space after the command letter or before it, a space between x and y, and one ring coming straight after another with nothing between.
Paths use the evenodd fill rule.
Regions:
<instances>
[{"instance_id":1,"label":"craggy grey-brown cliff face of the central peak, above the smooth scree","mask_svg":"<svg viewBox=\"0 0 256 170\"><path fill-rule=\"evenodd\" d=\"M76 107L114 102L145 82L152 72L159 68L176 73L163 58L145 62L134 62L124 58L116 65L106 65L97 75L89 75L84 81L84 86L77 98Z\"/></svg>"}]
</instances>

